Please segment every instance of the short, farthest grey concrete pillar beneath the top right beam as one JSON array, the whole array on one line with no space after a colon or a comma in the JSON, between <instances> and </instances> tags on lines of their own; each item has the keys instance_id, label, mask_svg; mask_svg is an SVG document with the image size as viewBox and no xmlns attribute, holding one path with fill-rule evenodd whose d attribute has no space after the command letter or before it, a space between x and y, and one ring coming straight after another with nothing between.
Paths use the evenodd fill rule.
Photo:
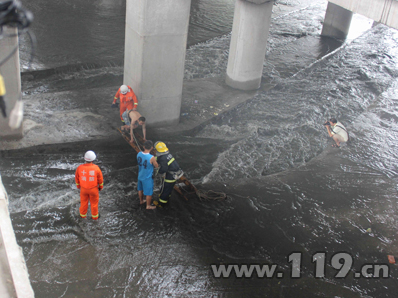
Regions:
<instances>
[{"instance_id":1,"label":"short, farthest grey concrete pillar beneath the top right beam","mask_svg":"<svg viewBox=\"0 0 398 298\"><path fill-rule=\"evenodd\" d=\"M322 36L346 39L353 12L329 2L323 22Z\"/></svg>"}]
</instances>

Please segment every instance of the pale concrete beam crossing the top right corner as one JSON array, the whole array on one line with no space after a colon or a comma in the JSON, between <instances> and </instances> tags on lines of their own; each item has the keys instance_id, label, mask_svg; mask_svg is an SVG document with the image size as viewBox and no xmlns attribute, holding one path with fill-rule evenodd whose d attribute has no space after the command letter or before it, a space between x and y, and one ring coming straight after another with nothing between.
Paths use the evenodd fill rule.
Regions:
<instances>
[{"instance_id":1,"label":"pale concrete beam crossing the top right corner","mask_svg":"<svg viewBox=\"0 0 398 298\"><path fill-rule=\"evenodd\" d=\"M397 0L329 0L329 2L398 29Z\"/></svg>"}]
</instances>

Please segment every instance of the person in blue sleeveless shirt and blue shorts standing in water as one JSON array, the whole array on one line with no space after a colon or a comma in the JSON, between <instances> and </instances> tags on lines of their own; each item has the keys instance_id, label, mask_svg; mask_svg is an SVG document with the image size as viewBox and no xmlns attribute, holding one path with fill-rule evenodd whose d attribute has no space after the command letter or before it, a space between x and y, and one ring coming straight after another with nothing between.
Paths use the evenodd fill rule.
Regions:
<instances>
[{"instance_id":1,"label":"person in blue sleeveless shirt and blue shorts standing in water","mask_svg":"<svg viewBox=\"0 0 398 298\"><path fill-rule=\"evenodd\" d=\"M155 156L150 152L153 149L152 141L145 141L144 152L137 154L138 162L138 197L140 198L140 204L145 204L146 209L156 209L156 206L151 206L152 195L153 195L153 168L158 168L159 165L156 162ZM145 201L144 201L145 196Z\"/></svg>"}]
</instances>

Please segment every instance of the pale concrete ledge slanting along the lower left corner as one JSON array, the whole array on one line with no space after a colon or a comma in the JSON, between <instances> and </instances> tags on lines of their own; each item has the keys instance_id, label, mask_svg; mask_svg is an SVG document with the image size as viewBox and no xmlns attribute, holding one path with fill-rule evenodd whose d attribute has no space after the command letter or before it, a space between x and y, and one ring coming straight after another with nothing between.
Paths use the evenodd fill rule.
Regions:
<instances>
[{"instance_id":1,"label":"pale concrete ledge slanting along the lower left corner","mask_svg":"<svg viewBox=\"0 0 398 298\"><path fill-rule=\"evenodd\" d=\"M0 176L0 297L33 298L22 249L15 239L7 192Z\"/></svg>"}]
</instances>

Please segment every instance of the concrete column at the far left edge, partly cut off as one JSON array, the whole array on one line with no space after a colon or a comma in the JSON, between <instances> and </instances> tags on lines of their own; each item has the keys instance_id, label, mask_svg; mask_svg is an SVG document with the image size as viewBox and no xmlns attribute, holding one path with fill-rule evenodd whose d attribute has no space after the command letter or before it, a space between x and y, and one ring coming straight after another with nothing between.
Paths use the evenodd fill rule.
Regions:
<instances>
[{"instance_id":1,"label":"concrete column at the far left edge, partly cut off","mask_svg":"<svg viewBox=\"0 0 398 298\"><path fill-rule=\"evenodd\" d=\"M18 29L3 26L4 37L0 39L0 62L3 61L13 50L16 52L8 61L0 67L0 73L4 78L6 88L5 102L7 108L7 118L0 114L0 139L20 139L22 138L22 125L11 130L8 126L9 116L15 103L21 96L21 73L19 68L18 50ZM5 37L5 36L12 37Z\"/></svg>"}]
</instances>

